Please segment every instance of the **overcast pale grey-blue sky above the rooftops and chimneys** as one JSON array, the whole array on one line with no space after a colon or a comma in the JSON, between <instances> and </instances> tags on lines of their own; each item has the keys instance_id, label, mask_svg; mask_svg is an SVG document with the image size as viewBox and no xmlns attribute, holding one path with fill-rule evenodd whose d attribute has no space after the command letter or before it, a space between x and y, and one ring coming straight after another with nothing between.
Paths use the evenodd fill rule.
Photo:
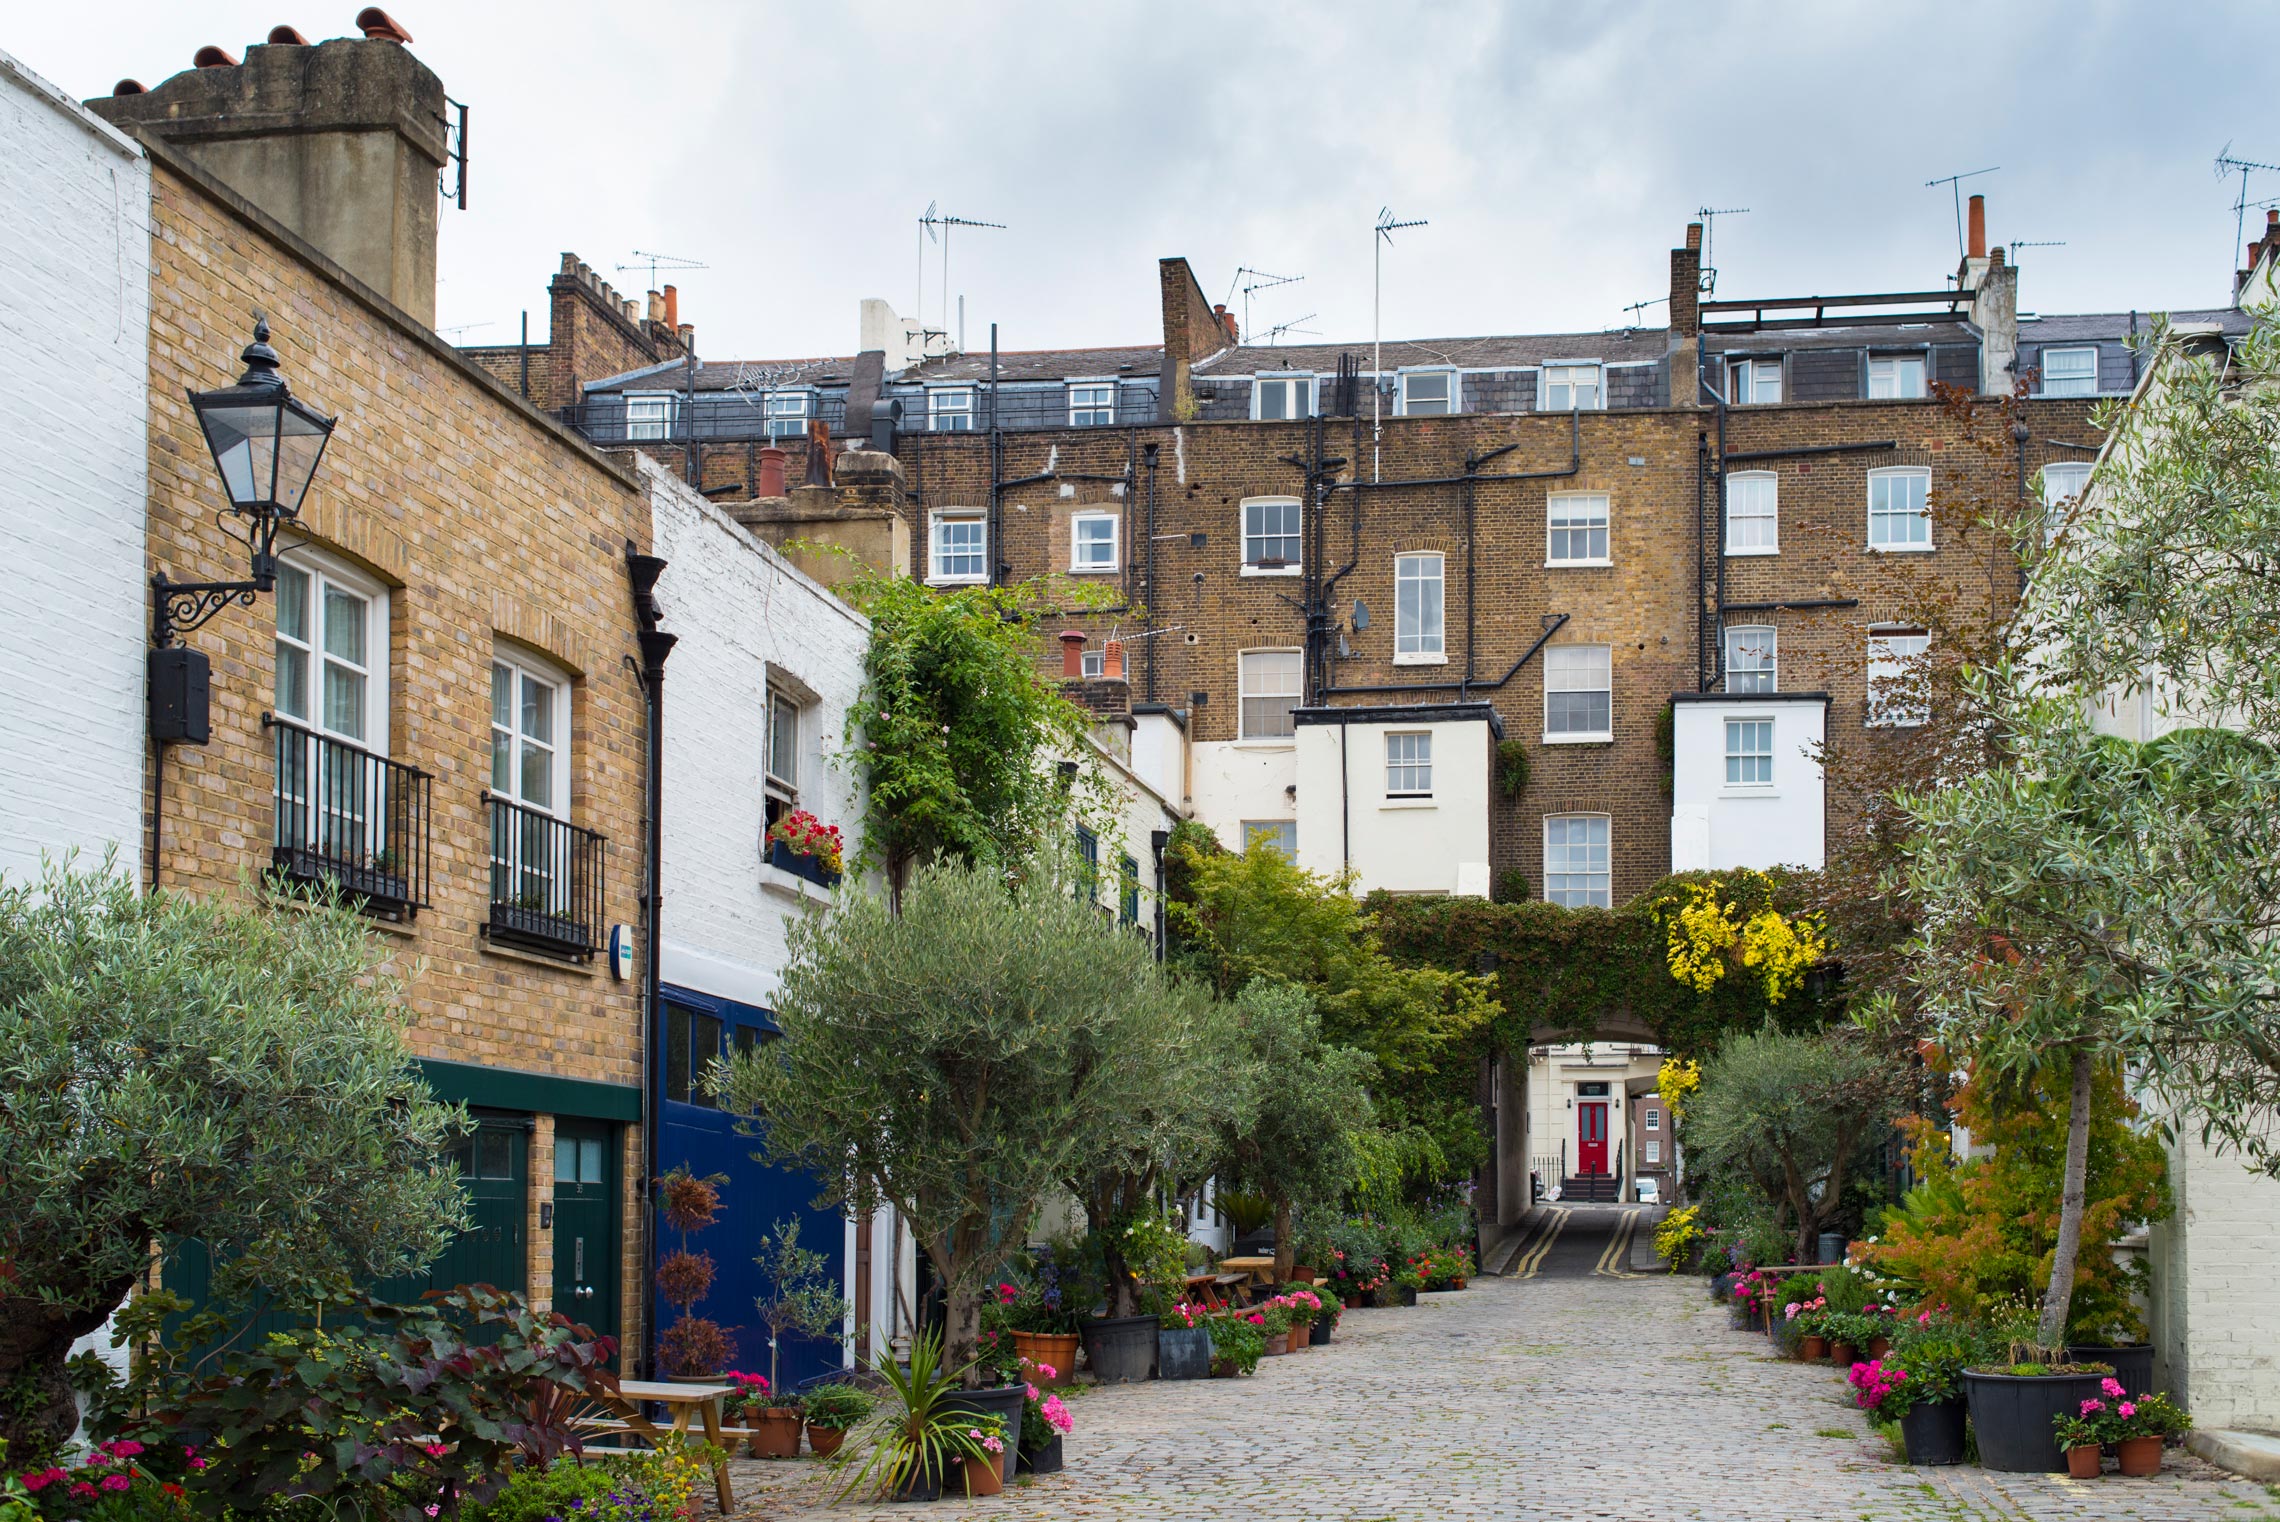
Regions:
<instances>
[{"instance_id":1,"label":"overcast pale grey-blue sky above the rooftops and chimneys","mask_svg":"<svg viewBox=\"0 0 2280 1522\"><path fill-rule=\"evenodd\" d=\"M201 43L353 0L16 7L0 48L64 89L157 84ZM577 251L620 289L636 248L700 260L707 358L850 353L855 303L919 303L919 216L958 232L951 321L1005 349L1161 337L1156 260L1213 301L1238 267L1304 276L1254 330L1368 339L1621 326L1669 292L1696 207L1721 296L1938 289L1970 180L2038 312L2223 305L2239 178L2280 164L2280 5L549 5L397 0L472 107L470 207L442 212L438 321L545 333ZM2250 198L2280 196L2280 173ZM2259 221L2262 212L2250 212ZM942 314L928 248L923 317ZM1236 298L1240 305L1240 296ZM1646 308L1644 321L1662 321Z\"/></svg>"}]
</instances>

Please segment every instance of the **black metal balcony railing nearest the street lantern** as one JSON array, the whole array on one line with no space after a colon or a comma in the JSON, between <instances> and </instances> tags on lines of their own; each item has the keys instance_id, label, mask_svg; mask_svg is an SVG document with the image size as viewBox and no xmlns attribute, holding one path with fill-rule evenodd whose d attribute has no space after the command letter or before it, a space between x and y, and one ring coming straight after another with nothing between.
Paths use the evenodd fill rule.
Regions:
<instances>
[{"instance_id":1,"label":"black metal balcony railing nearest the street lantern","mask_svg":"<svg viewBox=\"0 0 2280 1522\"><path fill-rule=\"evenodd\" d=\"M337 884L390 918L429 907L433 779L290 718L262 722L276 736L271 866L292 882Z\"/></svg>"}]
</instances>

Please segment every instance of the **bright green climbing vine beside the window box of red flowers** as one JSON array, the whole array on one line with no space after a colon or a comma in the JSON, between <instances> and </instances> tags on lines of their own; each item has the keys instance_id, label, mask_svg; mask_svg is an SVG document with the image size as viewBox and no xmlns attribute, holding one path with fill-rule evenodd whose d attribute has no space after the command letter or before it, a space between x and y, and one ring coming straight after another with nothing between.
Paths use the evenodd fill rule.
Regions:
<instances>
[{"instance_id":1,"label":"bright green climbing vine beside the window box of red flowers","mask_svg":"<svg viewBox=\"0 0 2280 1522\"><path fill-rule=\"evenodd\" d=\"M901 884L912 864L1019 864L1065 832L1072 809L1106 818L1085 756L1092 715L1042 670L1037 620L1067 604L1042 583L935 590L857 576L841 592L871 617L864 702L848 709L848 754L869 788L860 866Z\"/></svg>"}]
</instances>

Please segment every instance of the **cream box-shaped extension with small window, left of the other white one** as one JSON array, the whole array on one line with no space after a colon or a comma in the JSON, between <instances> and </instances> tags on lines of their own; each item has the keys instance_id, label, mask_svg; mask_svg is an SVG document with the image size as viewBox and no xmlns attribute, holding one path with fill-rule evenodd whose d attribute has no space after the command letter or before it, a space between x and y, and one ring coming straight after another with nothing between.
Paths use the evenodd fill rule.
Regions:
<instances>
[{"instance_id":1,"label":"cream box-shaped extension with small window, left of the other white one","mask_svg":"<svg viewBox=\"0 0 2280 1522\"><path fill-rule=\"evenodd\" d=\"M1489 704L1300 709L1297 864L1357 893L1489 895Z\"/></svg>"}]
</instances>

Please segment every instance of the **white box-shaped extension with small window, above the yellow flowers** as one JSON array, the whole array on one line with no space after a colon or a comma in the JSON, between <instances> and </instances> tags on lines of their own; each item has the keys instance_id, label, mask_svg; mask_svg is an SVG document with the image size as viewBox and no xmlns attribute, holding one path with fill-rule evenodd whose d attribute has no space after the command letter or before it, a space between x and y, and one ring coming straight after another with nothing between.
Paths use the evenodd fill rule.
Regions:
<instances>
[{"instance_id":1,"label":"white box-shaped extension with small window, above the yellow flowers","mask_svg":"<svg viewBox=\"0 0 2280 1522\"><path fill-rule=\"evenodd\" d=\"M1671 711L1671 870L1826 861L1822 693L1683 695Z\"/></svg>"}]
</instances>

